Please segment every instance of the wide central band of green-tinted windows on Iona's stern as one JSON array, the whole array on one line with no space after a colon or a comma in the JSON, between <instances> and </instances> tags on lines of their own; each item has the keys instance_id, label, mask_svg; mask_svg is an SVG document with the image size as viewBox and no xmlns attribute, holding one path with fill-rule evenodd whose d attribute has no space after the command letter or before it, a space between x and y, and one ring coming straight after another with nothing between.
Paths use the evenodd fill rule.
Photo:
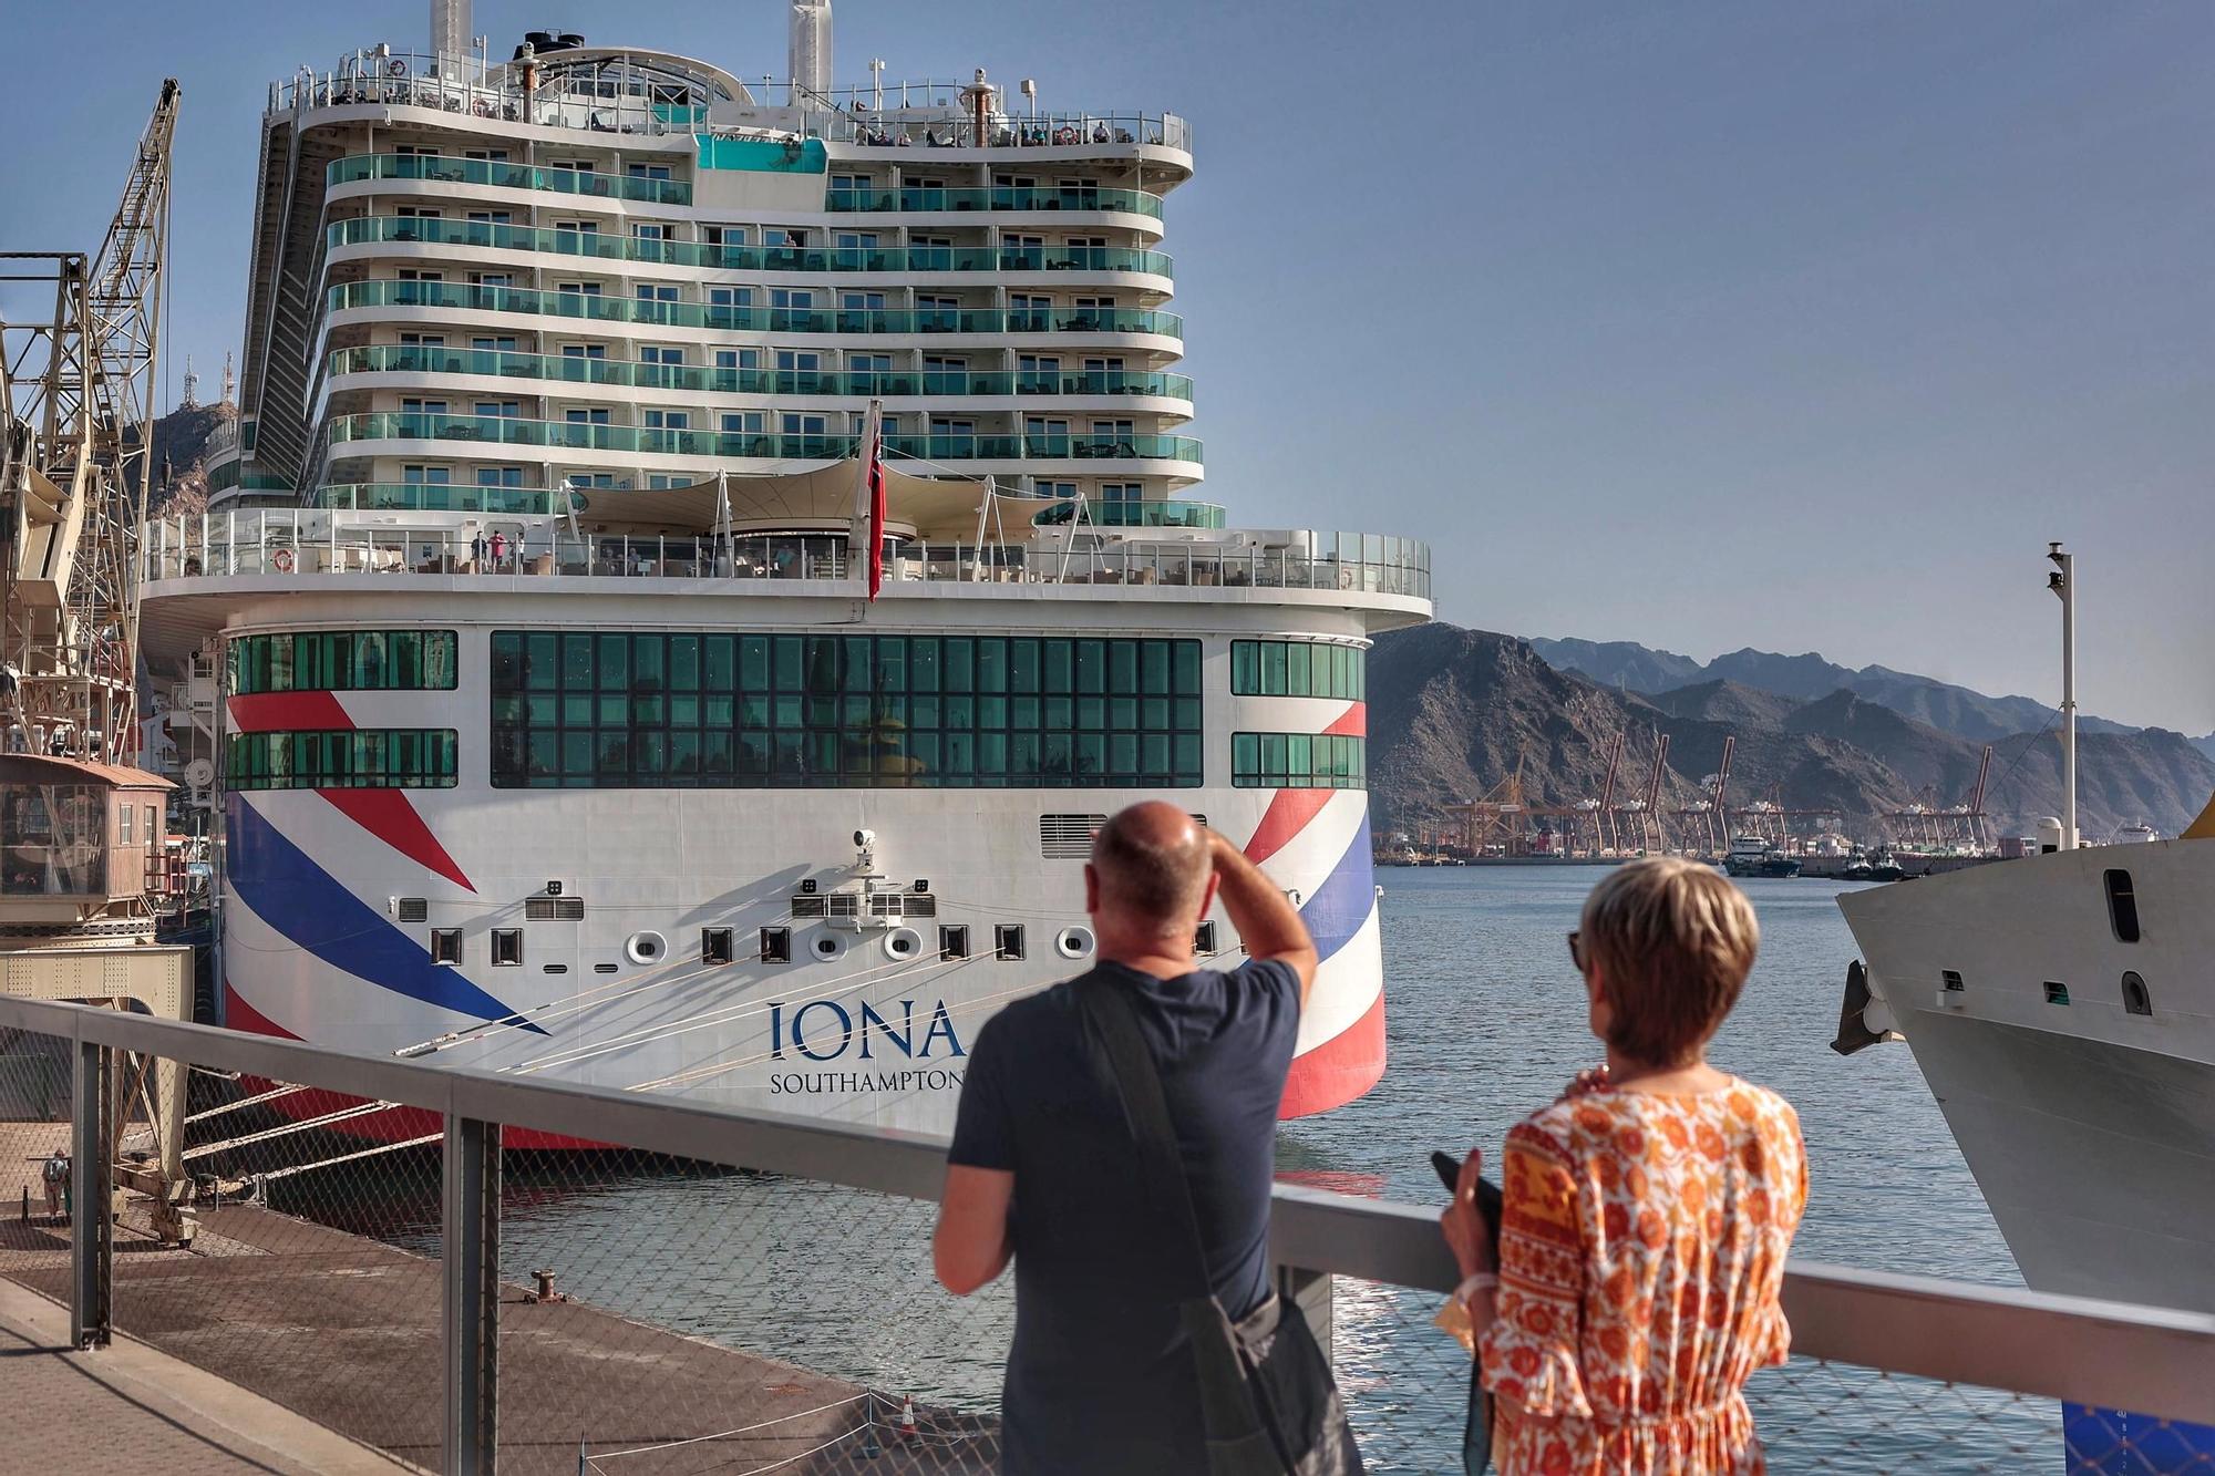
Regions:
<instances>
[{"instance_id":1,"label":"wide central band of green-tinted windows on Iona's stern","mask_svg":"<svg viewBox=\"0 0 2215 1476\"><path fill-rule=\"evenodd\" d=\"M797 576L817 554L753 556ZM501 789L1203 780L1198 640L494 632L490 687Z\"/></svg>"}]
</instances>

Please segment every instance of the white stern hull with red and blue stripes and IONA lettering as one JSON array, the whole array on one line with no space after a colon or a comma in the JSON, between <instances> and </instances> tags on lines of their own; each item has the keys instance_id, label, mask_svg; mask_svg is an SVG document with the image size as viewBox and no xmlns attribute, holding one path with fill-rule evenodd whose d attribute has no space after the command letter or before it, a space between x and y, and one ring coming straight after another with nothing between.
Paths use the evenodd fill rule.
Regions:
<instances>
[{"instance_id":1,"label":"white stern hull with red and blue stripes and IONA lettering","mask_svg":"<svg viewBox=\"0 0 2215 1476\"><path fill-rule=\"evenodd\" d=\"M410 698L425 700L423 694ZM439 698L474 705L461 694ZM399 720L394 705L403 700L323 691L230 698L228 716L233 731L341 729L354 727L357 714L359 725L370 727ZM419 718L410 714L408 720ZM1362 705L1351 703L1327 731L1360 734L1362 722ZM1085 966L1045 946L1054 929L1083 922L1079 869L1039 864L1034 851L1030 860L1014 858L1008 833L1028 844L1023 831L1039 809L1114 807L1139 798L1070 789L492 791L467 778L470 738L463 729L463 782L454 789L226 796L222 968L228 1024L368 1053L450 1039L430 1059L944 1130L959 1090L961 1053L981 1019L1008 997ZM1384 1070L1367 793L1223 787L1172 793L1207 813L1216 829L1247 838L1247 853L1298 898L1322 955L1282 1113L1300 1117L1360 1097ZM729 813L753 816L749 836L755 840L740 853L720 855L718 875L696 875L678 853L660 858L598 844L596 807L609 802L622 804L629 833L656 822L676 833L702 813ZM933 880L939 922L968 922L979 937L992 935L995 918L1030 922L1037 940L1030 960L941 964L930 957L890 966L870 953L866 933L839 960L817 960L806 951L811 924L795 924L793 962L755 964L755 929L791 922L786 878L835 869L844 836L864 824L886 838L886 869ZM906 836L926 840L902 847ZM549 875L569 878L569 895L585 898L591 909L587 924L569 924L576 942L547 955L534 937L529 966L487 966L481 933L518 926L521 898L534 895ZM724 906L749 889L762 893L769 878L780 878L773 900ZM399 898L423 898L430 922L396 922ZM620 922L609 926L602 918ZM693 946L702 922L738 929L746 940L738 964L702 968ZM465 931L474 949L463 966L432 962L430 926ZM622 935L640 926L669 940L658 964L640 966L622 955ZM857 968L862 955L868 964ZM563 975L549 977L543 962L549 957L560 960ZM620 973L609 975L609 962ZM902 1006L913 1013L895 1015ZM804 1022L802 1011L808 1013ZM939 1013L944 1028L933 1028ZM802 1024L813 1031L804 1050L795 1046ZM886 1028L875 1053L873 1024ZM844 1059L855 1050L833 1053L833 1039L859 1039L859 1062ZM862 1062L866 1066L855 1070ZM660 1086L671 1077L676 1082ZM822 1090L824 1082L851 1088L855 1079L882 1090ZM277 1106L295 1115L330 1110L306 1093ZM408 1117L383 1113L339 1128L414 1137L423 1126Z\"/></svg>"}]
</instances>

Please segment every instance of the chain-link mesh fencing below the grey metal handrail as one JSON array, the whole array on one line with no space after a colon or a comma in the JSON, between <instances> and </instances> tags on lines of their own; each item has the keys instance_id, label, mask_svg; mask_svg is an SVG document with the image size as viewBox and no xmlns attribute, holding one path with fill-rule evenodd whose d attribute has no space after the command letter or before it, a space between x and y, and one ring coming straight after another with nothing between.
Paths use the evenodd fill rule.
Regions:
<instances>
[{"instance_id":1,"label":"chain-link mesh fencing below the grey metal handrail","mask_svg":"<svg viewBox=\"0 0 2215 1476\"><path fill-rule=\"evenodd\" d=\"M0 1024L20 1008L60 1017L0 1002ZM195 1057L184 1117L164 1121L159 1095L133 1090L142 1062L109 1055L109 1308L122 1334L427 1469L485 1469L456 1458L481 1436L498 1469L560 1476L997 1469L1012 1292L1006 1279L970 1299L935 1285L926 1141L117 1015L71 1028L86 1039L126 1028ZM97 1203L102 1179L71 1164L49 1212L47 1166L55 1150L71 1157L71 1106L86 1099L75 1064L71 1037L0 1031L0 1148L22 1177L0 1277L58 1301L73 1296L71 1212ZM505 1148L483 1155L472 1181L467 1139L450 1128L494 1110ZM1278 1250L1338 1272L1329 1339L1364 1458L1376 1472L1460 1469L1471 1370L1431 1325L1451 1270L1429 1217L1342 1199L1325 1212L1325 1199L1280 1199ZM496 1274L476 1283L476 1261L456 1250L472 1234L496 1246ZM1827 1294L1858 1305L1836 1279ZM2011 1314L2009 1296L2022 1299L1960 1301ZM1894 1316L1887 1308L1872 1299L1867 1316ZM1834 1350L1823 1332L1834 1316L1803 1328L1816 1334L1801 1339L1807 1352ZM2053 1347L2033 1363L2067 1372L2082 1341L2093 1396L2131 1387L2115 1350L2166 1370L2168 1383L2149 1387L2164 1407L2195 1387L2191 1370L2215 1367L2215 1332L2191 1319L2044 1316ZM2215 1472L2206 1432L2113 1412L2064 1418L2060 1396L2075 1385L2051 1387L2036 1370L2020 1381L2036 1394L1920 1376L1949 1356L1965 1374L1991 1367L1969 1347L1934 1347L1931 1325L1945 1323L1900 1323L1896 1359L1865 1354L1889 1370L1796 1356L1756 1374L1748 1401L1772 1469ZM476 1363L472 1328L490 1334ZM1960 1328L1982 1336L1974 1316Z\"/></svg>"}]
</instances>

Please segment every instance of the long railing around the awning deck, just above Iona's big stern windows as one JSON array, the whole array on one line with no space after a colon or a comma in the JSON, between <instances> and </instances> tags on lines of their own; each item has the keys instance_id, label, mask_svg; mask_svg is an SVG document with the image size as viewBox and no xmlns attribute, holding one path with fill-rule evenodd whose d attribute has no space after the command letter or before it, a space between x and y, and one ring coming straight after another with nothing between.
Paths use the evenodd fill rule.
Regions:
<instances>
[{"instance_id":1,"label":"long railing around the awning deck, just above Iona's big stern windows","mask_svg":"<svg viewBox=\"0 0 2215 1476\"><path fill-rule=\"evenodd\" d=\"M620 508L620 492L574 492L596 516ZM1132 514L1096 527L1127 527ZM1189 527L1167 521L1141 527ZM1205 516L1205 514L1185 514ZM851 578L846 539L835 534L660 536L583 534L565 519L498 523L501 565L483 567L483 536L470 527L394 527L321 508L255 508L157 519L140 530L142 576L321 578L330 574L509 574L545 578L822 581ZM1085 539L1083 530L1074 530ZM1389 594L1431 598L1431 550L1415 539L1356 532L1256 532L1247 541L1150 543L1114 532L1090 534L1096 547L1023 543L888 543L884 578L968 585L1165 585L1225 590L1309 590L1327 596Z\"/></svg>"}]
</instances>

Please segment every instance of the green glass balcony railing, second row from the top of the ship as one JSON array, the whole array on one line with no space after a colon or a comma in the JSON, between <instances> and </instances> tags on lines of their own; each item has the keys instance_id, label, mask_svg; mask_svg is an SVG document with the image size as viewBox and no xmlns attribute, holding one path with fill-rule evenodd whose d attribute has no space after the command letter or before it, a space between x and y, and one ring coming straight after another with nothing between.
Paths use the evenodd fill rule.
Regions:
<instances>
[{"instance_id":1,"label":"green glass balcony railing, second row from the top of the ship","mask_svg":"<svg viewBox=\"0 0 2215 1476\"><path fill-rule=\"evenodd\" d=\"M421 219L370 215L341 219L330 246L427 242L434 246L490 246L556 257L642 262L649 266L709 266L749 273L1145 273L1170 277L1165 250L1127 246L711 246L656 242L616 230L543 230L496 226L481 219Z\"/></svg>"}]
</instances>

